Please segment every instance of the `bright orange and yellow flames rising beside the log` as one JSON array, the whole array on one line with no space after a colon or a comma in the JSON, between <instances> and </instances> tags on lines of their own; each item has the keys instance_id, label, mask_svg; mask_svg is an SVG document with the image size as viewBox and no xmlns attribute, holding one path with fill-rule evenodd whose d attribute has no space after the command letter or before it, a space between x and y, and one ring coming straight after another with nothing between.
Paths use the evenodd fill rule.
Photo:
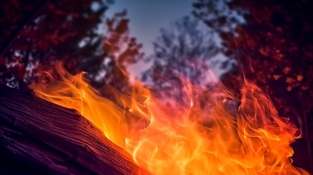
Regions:
<instances>
[{"instance_id":1,"label":"bright orange and yellow flames rising beside the log","mask_svg":"<svg viewBox=\"0 0 313 175\"><path fill-rule=\"evenodd\" d=\"M128 96L100 97L83 77L60 64L56 75L32 86L36 95L73 108L154 175L307 175L292 167L290 144L299 130L266 95L245 82L237 110L224 88L210 91L186 83L184 100L159 100L140 82ZM183 103L185 102L185 103Z\"/></svg>"}]
</instances>

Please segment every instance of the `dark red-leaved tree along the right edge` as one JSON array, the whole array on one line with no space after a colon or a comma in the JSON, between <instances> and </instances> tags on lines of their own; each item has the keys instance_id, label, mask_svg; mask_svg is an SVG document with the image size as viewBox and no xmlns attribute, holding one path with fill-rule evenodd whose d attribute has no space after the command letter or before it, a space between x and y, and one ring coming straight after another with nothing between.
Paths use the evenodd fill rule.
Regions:
<instances>
[{"instance_id":1,"label":"dark red-leaved tree along the right edge","mask_svg":"<svg viewBox=\"0 0 313 175\"><path fill-rule=\"evenodd\" d=\"M210 13L207 9L211 7L212 1L214 0L198 0L194 4L194 14L206 21L206 16ZM229 10L248 13L243 15L245 23L232 20L236 24L234 32L219 32L225 43L225 52L230 58L237 56L240 62L240 66L225 74L221 81L233 92L238 92L238 86L235 85L242 79L243 70L247 80L256 83L270 96L280 116L293 120L300 116L306 143L299 140L294 144L294 164L312 171L313 133L307 128L313 127L313 12L310 9L313 2L223 2ZM224 18L231 18L220 11L217 13Z\"/></svg>"}]
</instances>

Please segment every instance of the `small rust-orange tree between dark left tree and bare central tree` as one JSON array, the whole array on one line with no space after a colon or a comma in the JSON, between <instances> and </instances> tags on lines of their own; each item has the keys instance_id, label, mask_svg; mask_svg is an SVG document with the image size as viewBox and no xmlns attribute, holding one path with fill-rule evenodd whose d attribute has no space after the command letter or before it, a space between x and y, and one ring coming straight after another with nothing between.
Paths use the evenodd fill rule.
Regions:
<instances>
[{"instance_id":1,"label":"small rust-orange tree between dark left tree and bare central tree","mask_svg":"<svg viewBox=\"0 0 313 175\"><path fill-rule=\"evenodd\" d=\"M81 69L88 72L91 84L101 92L108 86L126 93L129 90L127 66L142 58L141 44L129 36L126 10L116 13L105 21L107 36L102 39L99 54L101 59L87 59ZM106 85L106 88L103 88Z\"/></svg>"}]
</instances>

